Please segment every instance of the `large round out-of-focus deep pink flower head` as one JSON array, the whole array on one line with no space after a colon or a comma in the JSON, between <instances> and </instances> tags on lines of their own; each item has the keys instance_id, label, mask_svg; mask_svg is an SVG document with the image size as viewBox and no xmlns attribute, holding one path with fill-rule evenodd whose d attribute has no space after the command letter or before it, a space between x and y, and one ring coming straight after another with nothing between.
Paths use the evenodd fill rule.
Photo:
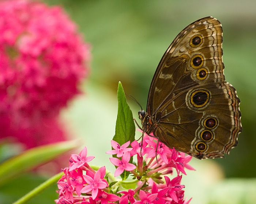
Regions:
<instances>
[{"instance_id":1,"label":"large round out-of-focus deep pink flower head","mask_svg":"<svg viewBox=\"0 0 256 204\"><path fill-rule=\"evenodd\" d=\"M0 33L0 137L27 147L63 140L48 126L79 93L89 46L60 7L37 1L1 1Z\"/></svg>"}]
</instances>

